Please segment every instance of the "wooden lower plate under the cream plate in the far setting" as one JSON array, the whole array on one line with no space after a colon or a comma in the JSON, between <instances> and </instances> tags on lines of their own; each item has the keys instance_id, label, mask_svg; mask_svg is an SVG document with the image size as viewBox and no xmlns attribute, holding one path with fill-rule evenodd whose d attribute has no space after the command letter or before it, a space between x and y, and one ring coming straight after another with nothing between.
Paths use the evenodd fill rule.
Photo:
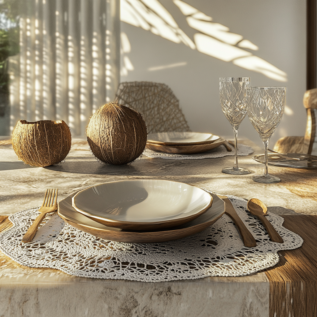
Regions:
<instances>
[{"instance_id":1,"label":"wooden lower plate under the cream plate in the far setting","mask_svg":"<svg viewBox=\"0 0 317 317\"><path fill-rule=\"evenodd\" d=\"M194 153L201 153L210 151L215 149L218 146L221 146L226 141L222 138L219 138L212 143L209 144L197 144L197 145L159 145L159 144L152 144L146 142L146 148L157 151L157 152L164 152L164 153L171 153L171 154L194 154ZM227 148L227 146L226 146ZM229 149L227 148L227 151ZM231 151L231 149L230 149Z\"/></svg>"}]
</instances>

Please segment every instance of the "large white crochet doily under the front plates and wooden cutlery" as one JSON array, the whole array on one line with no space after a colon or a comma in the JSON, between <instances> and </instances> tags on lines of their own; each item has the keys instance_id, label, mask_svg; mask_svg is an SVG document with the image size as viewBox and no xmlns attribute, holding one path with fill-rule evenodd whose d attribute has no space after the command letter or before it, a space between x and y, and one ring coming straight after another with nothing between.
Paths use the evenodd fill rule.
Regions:
<instances>
[{"instance_id":1,"label":"large white crochet doily under the front plates and wooden cutlery","mask_svg":"<svg viewBox=\"0 0 317 317\"><path fill-rule=\"evenodd\" d=\"M247 212L246 201L229 198L255 237L256 247L244 247L226 215L201 233L160 243L107 241L54 215L39 228L31 243L22 243L38 215L33 208L9 217L14 226L0 235L0 249L14 261L33 268L55 268L81 277L162 282L248 275L279 262L278 250L301 246L303 240L282 226L282 217L272 213L268 216L284 240L282 244L271 242L260 221Z\"/></svg>"}]
</instances>

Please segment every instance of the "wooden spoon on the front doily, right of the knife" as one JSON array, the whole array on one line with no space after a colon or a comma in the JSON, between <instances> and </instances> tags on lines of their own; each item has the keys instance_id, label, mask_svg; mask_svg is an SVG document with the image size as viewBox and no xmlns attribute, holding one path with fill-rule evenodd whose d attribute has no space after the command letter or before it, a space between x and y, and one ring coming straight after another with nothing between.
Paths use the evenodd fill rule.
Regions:
<instances>
[{"instance_id":1,"label":"wooden spoon on the front doily, right of the knife","mask_svg":"<svg viewBox=\"0 0 317 317\"><path fill-rule=\"evenodd\" d=\"M251 198L248 201L247 208L252 215L258 217L258 219L263 223L268 235L271 238L271 241L278 243L284 242L272 224L268 221L268 219L265 218L265 216L268 215L268 207L260 199Z\"/></svg>"}]
</instances>

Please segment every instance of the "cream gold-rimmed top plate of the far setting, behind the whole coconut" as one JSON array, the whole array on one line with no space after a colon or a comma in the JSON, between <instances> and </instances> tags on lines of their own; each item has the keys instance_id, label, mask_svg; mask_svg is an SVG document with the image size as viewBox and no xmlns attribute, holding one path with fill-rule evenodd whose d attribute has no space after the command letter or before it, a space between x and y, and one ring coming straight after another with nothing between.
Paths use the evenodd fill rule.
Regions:
<instances>
[{"instance_id":1,"label":"cream gold-rimmed top plate of the far setting, behind the whole coconut","mask_svg":"<svg viewBox=\"0 0 317 317\"><path fill-rule=\"evenodd\" d=\"M219 138L211 133L161 132L148 134L147 142L159 145L200 145L212 143Z\"/></svg>"}]
</instances>

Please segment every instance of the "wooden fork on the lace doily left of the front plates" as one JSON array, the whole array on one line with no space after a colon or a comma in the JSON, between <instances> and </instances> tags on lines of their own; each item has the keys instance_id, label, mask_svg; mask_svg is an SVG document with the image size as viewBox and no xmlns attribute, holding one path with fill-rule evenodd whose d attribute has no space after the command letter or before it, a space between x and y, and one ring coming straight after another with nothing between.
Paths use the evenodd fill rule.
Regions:
<instances>
[{"instance_id":1,"label":"wooden fork on the lace doily left of the front plates","mask_svg":"<svg viewBox=\"0 0 317 317\"><path fill-rule=\"evenodd\" d=\"M38 227L42 223L43 219L46 217L46 214L57 210L57 193L58 189L52 188L46 190L43 204L38 210L40 214L36 217L34 222L29 227L29 230L23 236L22 242L31 242L36 234Z\"/></svg>"}]
</instances>

